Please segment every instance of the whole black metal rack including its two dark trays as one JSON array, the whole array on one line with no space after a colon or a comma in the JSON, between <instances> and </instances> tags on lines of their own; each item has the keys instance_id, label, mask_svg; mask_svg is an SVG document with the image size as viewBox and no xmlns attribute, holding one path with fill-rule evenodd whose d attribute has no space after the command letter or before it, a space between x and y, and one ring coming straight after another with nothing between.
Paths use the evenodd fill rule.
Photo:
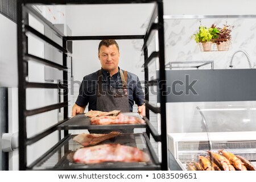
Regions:
<instances>
[{"instance_id":1,"label":"whole black metal rack including its two dark trays","mask_svg":"<svg viewBox=\"0 0 256 182\"><path fill-rule=\"evenodd\" d=\"M42 16L38 11L36 11L33 5L82 5L82 4L129 4L129 3L154 3L154 10L150 22L148 23L147 30L144 35L104 35L104 36L65 36L63 35L55 26L53 26L44 16ZM112 169L112 170L167 170L168 169L168 160L167 160L167 134L166 134L166 97L163 96L163 92L166 90L166 85L164 82L161 82L159 85L161 107L155 107L151 105L148 101L148 94L146 94L146 117L143 119L146 121L146 125L125 125L126 128L142 128L146 127L146 133L143 134L129 134L130 138L135 139L135 144L138 148L143 151L148 152L151 156L150 163L103 163L95 165L85 165L85 164L75 164L67 160L67 155L69 152L76 150L81 147L72 142L72 136L68 134L70 129L117 129L123 127L124 125L111 125L111 126L92 126L89 124L89 121L86 119L83 120L82 115L76 118L68 118L68 94L63 94L63 102L57 104L52 104L44 107L39 107L36 109L28 110L26 107L26 89L28 88L43 88L43 89L63 89L63 93L68 93L68 67L67 67L67 57L72 56L72 50L70 50L69 42L75 40L101 40L101 39L143 39L144 44L142 51L144 53L144 73L145 80L148 80L148 68L147 65L154 58L158 57L160 62L160 80L166 80L164 72L164 22L163 22L163 2L161 0L111 0L111 1L101 1L101 0L20 0L18 1L18 20L17 20L17 38L18 38L18 75L19 75L19 86L18 86L18 100L19 100L19 169L20 170L36 170L36 169L48 169L48 170L93 170L93 169ZM32 15L36 20L42 23L45 27L58 36L62 40L62 46L57 44L52 39L49 39L46 35L43 35L38 30L32 28L29 24L28 15ZM157 20L157 23L156 23ZM148 56L149 42L152 39L152 35L155 35L154 32L158 31L159 42L159 51L151 53ZM43 59L35 55L28 53L28 36L32 35L34 38L39 39L43 43L47 43L53 48L59 50L63 54L62 64L54 63L53 61ZM28 61L35 61L36 63L47 65L51 68L59 69L63 72L63 83L62 84L53 84L53 83L41 83L41 82L28 82L26 79L26 69ZM58 62L59 63L59 62ZM146 85L146 88L148 89ZM61 101L61 99L60 99ZM59 121L54 125L48 127L48 129L37 133L32 137L27 137L27 117L32 115L45 113L47 111L61 109L63 107L63 121ZM149 111L152 110L154 113L160 114L161 119L161 131L155 130L155 128L150 123ZM80 118L81 117L81 118ZM80 118L81 120L77 119ZM74 122L75 121L75 122ZM85 125L84 125L85 124ZM38 142L39 140L47 137L49 134L57 130L64 130L64 138L61 139L58 143L55 144L51 149L49 149L43 156L36 159L30 166L27 165L27 147L31 144ZM150 134L156 142L161 142L161 151L162 162L158 162L158 158L150 143ZM61 135L60 135L61 136ZM122 138L125 138L125 135L118 137L122 143ZM117 139L117 140L118 140ZM141 142L139 142L141 140ZM131 143L128 143L131 144Z\"/></svg>"}]
</instances>

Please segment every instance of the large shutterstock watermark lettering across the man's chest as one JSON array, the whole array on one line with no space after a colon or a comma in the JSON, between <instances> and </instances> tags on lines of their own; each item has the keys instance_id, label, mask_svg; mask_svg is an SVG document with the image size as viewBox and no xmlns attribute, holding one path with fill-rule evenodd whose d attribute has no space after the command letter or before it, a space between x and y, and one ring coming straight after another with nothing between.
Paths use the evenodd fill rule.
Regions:
<instances>
[{"instance_id":1,"label":"large shutterstock watermark lettering across the man's chest","mask_svg":"<svg viewBox=\"0 0 256 182\"><path fill-rule=\"evenodd\" d=\"M154 78L151 78L154 80ZM199 95L196 92L195 86L199 80L191 80L189 75L185 75L183 80L154 80L154 81L146 81L142 80L139 83L135 82L134 80L128 81L127 90L131 88L136 88L135 93L129 92L128 94L147 94L149 93L152 96L157 96L159 93L162 93L164 96L169 96L173 94L175 96L188 96L192 95ZM70 86L68 86L70 84ZM84 81L77 81L71 80L70 82L61 80L58 83L59 86L59 94L65 95L70 92L70 95L73 96L75 94L75 88L82 88L79 92L80 95L84 96L94 96L97 95L97 80L84 80ZM102 81L102 86L100 93L101 94L114 94L114 93L123 93L122 89L122 82L121 81L110 81L109 83L105 80ZM131 89L132 90L132 89Z\"/></svg>"}]
</instances>

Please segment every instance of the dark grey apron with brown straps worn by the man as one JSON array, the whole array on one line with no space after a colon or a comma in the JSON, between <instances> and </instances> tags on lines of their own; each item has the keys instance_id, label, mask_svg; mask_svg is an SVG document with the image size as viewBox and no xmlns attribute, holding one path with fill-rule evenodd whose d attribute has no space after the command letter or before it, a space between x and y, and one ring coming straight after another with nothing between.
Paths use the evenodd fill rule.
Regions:
<instances>
[{"instance_id":1,"label":"dark grey apron with brown straps worn by the man","mask_svg":"<svg viewBox=\"0 0 256 182\"><path fill-rule=\"evenodd\" d=\"M113 87L106 87L102 89L102 72L98 71L98 84L97 84L97 107L99 111L109 112L112 110L121 110L121 112L129 112L129 96L127 90L127 71L124 73L119 70L122 89ZM133 133L133 129L113 129L113 130L89 130L90 133L110 133L111 131L119 131L121 133Z\"/></svg>"}]
</instances>

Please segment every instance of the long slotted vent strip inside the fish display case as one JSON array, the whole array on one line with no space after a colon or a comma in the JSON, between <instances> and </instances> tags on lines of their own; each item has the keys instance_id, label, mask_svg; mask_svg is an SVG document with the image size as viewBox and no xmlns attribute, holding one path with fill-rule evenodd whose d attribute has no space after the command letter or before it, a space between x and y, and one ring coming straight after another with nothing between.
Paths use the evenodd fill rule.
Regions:
<instances>
[{"instance_id":1,"label":"long slotted vent strip inside the fish display case","mask_svg":"<svg viewBox=\"0 0 256 182\"><path fill-rule=\"evenodd\" d=\"M256 141L243 142L178 142L178 151L197 151L197 150L221 150L221 149L254 149Z\"/></svg>"}]
</instances>

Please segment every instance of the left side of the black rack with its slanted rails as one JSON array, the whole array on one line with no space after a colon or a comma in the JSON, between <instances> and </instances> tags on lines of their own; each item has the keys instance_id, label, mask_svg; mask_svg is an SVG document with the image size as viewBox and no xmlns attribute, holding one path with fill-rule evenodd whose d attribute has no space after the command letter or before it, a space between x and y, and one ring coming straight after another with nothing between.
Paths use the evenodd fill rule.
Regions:
<instances>
[{"instance_id":1,"label":"left side of the black rack with its slanted rails","mask_svg":"<svg viewBox=\"0 0 256 182\"><path fill-rule=\"evenodd\" d=\"M18 20L17 20L17 33L18 33L18 101L19 101L19 169L27 169L27 146L31 145L38 140L46 137L47 135L53 133L57 130L57 125L67 121L68 119L68 95L64 95L63 102L40 107L37 109L27 110L26 109L26 89L27 88L46 88L46 89L63 89L63 92L67 93L67 81L64 81L62 85L59 84L49 84L49 83L39 83L39 82L28 82L26 81L26 68L28 61L35 61L40 64L48 65L52 68L57 68L63 71L63 80L68 78L68 68L67 68L67 50L66 42L67 39L59 30L52 26L46 19L42 18L42 15L37 13L30 5L27 4L28 1L18 1ZM30 27L28 24L28 13L32 14L36 19L40 20L44 26L51 28L54 34L59 36L63 40L63 46L53 42L51 39L47 38L45 35L41 34L34 28ZM26 34L31 34L36 38L43 40L43 42L48 43L52 47L59 49L63 52L63 64L56 64L52 61L42 59L41 57L30 55L28 53L28 38ZM65 87L66 86L66 87ZM44 113L46 111L59 109L64 107L64 119L58 122L56 125L52 125L48 129L42 131L39 134L34 135L31 138L27 138L27 117L39 113Z\"/></svg>"}]
</instances>

